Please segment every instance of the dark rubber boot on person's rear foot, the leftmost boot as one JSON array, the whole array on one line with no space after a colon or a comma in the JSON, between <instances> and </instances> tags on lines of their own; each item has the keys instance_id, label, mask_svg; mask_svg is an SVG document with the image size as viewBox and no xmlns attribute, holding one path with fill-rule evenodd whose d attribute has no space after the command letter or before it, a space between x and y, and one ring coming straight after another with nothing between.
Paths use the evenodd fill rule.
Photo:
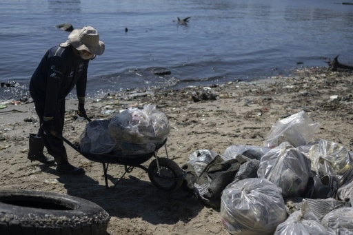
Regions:
<instances>
[{"instance_id":1,"label":"dark rubber boot on person's rear foot, the leftmost boot","mask_svg":"<svg viewBox=\"0 0 353 235\"><path fill-rule=\"evenodd\" d=\"M41 137L37 136L37 134L30 134L28 147L29 150L27 158L30 161L40 161L44 164L54 163L54 159L52 157L43 154L44 144L41 141Z\"/></svg>"}]
</instances>

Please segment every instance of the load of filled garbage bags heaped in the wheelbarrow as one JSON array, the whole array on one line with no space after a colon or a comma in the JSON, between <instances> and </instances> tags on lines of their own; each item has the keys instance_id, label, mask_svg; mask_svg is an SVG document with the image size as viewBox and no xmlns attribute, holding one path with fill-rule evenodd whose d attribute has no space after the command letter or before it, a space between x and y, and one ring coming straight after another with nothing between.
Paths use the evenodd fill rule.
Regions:
<instances>
[{"instance_id":1,"label":"load of filled garbage bags heaped in the wheelbarrow","mask_svg":"<svg viewBox=\"0 0 353 235\"><path fill-rule=\"evenodd\" d=\"M170 132L167 116L152 105L129 108L108 120L86 125L80 136L81 152L136 155L157 150Z\"/></svg>"}]
</instances>

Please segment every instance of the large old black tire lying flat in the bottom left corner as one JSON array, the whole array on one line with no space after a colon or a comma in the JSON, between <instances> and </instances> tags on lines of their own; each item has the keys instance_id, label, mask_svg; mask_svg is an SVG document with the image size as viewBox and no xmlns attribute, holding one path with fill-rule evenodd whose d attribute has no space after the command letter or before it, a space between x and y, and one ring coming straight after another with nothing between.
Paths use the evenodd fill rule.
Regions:
<instances>
[{"instance_id":1,"label":"large old black tire lying flat in the bottom left corner","mask_svg":"<svg viewBox=\"0 0 353 235\"><path fill-rule=\"evenodd\" d=\"M65 194L0 190L0 234L107 234L110 216L99 205Z\"/></svg>"}]
</instances>

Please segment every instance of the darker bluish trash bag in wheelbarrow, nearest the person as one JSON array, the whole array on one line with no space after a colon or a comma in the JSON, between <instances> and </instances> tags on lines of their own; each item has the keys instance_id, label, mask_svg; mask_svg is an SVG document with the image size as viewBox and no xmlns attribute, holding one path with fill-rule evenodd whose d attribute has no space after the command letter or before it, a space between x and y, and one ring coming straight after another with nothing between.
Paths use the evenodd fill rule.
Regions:
<instances>
[{"instance_id":1,"label":"darker bluish trash bag in wheelbarrow, nearest the person","mask_svg":"<svg viewBox=\"0 0 353 235\"><path fill-rule=\"evenodd\" d=\"M108 132L108 120L94 120L85 126L80 136L80 150L92 154L106 154L112 152L115 140Z\"/></svg>"}]
</instances>

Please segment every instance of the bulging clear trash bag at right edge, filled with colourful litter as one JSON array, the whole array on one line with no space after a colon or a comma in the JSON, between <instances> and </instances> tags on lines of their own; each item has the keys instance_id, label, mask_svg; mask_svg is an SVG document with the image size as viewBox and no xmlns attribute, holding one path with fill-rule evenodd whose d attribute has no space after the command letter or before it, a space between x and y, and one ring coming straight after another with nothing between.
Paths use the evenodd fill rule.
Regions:
<instances>
[{"instance_id":1,"label":"bulging clear trash bag at right edge, filled with colourful litter","mask_svg":"<svg viewBox=\"0 0 353 235\"><path fill-rule=\"evenodd\" d=\"M343 185L352 173L353 159L343 145L321 139L310 147L307 157L311 160L311 169L319 177L335 176L339 185Z\"/></svg>"}]
</instances>

